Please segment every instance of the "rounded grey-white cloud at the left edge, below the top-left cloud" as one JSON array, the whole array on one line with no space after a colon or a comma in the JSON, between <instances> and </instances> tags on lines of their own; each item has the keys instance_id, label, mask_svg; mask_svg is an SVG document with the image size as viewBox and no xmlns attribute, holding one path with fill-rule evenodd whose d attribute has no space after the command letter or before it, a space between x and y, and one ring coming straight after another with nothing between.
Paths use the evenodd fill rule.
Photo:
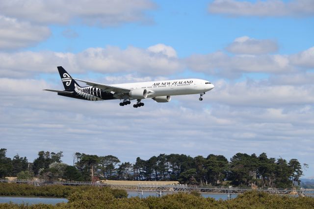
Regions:
<instances>
[{"instance_id":1,"label":"rounded grey-white cloud at the left edge, below the top-left cloud","mask_svg":"<svg viewBox=\"0 0 314 209\"><path fill-rule=\"evenodd\" d=\"M50 34L50 29L46 26L0 16L0 50L29 47L47 39Z\"/></svg>"}]
</instances>

